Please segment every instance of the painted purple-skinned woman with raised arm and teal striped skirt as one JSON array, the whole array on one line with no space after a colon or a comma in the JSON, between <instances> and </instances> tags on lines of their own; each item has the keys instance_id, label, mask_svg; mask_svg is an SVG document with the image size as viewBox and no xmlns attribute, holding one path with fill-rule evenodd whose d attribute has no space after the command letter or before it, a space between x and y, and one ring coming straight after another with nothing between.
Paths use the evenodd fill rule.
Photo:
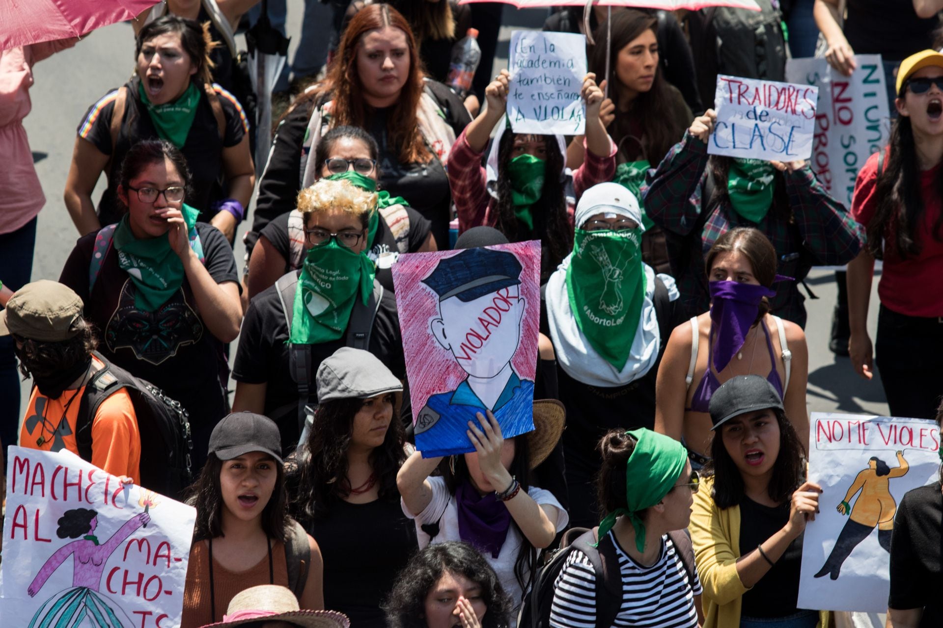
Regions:
<instances>
[{"instance_id":1,"label":"painted purple-skinned woman with raised arm and teal striped skirt","mask_svg":"<svg viewBox=\"0 0 943 628\"><path fill-rule=\"evenodd\" d=\"M59 517L56 536L59 539L77 539L60 547L49 556L40 572L26 589L29 597L35 597L49 576L69 556L73 557L74 567L72 588L64 589L46 600L33 619L29 628L73 628L83 625L83 620L93 628L130 628L134 624L124 611L113 601L98 592L102 584L102 574L108 557L118 549L125 539L130 537L141 525L151 521L147 513L135 515L104 543L95 535L98 527L98 513L91 508L66 510ZM120 615L120 617L119 617Z\"/></svg>"}]
</instances>

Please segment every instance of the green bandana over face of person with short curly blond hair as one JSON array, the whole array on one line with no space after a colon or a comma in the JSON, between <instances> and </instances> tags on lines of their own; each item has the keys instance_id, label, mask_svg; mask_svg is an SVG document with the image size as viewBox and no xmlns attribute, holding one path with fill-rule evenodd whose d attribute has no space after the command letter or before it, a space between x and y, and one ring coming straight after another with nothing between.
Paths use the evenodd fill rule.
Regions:
<instances>
[{"instance_id":1,"label":"green bandana over face of person with short curly blond hair","mask_svg":"<svg viewBox=\"0 0 943 628\"><path fill-rule=\"evenodd\" d=\"M355 253L335 238L308 250L295 289L289 342L318 345L338 340L357 295L364 304L370 299L375 274L365 252Z\"/></svg>"}]
</instances>

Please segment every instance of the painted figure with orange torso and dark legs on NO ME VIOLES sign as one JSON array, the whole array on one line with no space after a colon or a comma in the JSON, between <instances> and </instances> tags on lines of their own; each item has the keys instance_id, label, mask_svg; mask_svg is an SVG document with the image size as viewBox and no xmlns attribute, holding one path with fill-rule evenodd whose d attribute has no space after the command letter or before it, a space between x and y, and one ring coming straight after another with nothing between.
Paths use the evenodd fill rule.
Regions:
<instances>
[{"instance_id":1,"label":"painted figure with orange torso and dark legs on NO ME VIOLES sign","mask_svg":"<svg viewBox=\"0 0 943 628\"><path fill-rule=\"evenodd\" d=\"M851 516L841 528L828 560L815 577L820 578L828 573L831 579L836 580L838 572L841 571L841 564L851 556L858 543L868 538L875 525L878 528L878 542L888 554L890 553L890 537L894 529L897 502L890 494L888 484L891 477L906 475L910 468L907 460L903 459L903 452L897 452L897 460L900 466L891 469L884 460L872 456L868 461L868 468L854 478L852 486L845 493L845 499L837 507L841 514ZM861 491L861 494L852 507L852 497L858 491Z\"/></svg>"}]
</instances>

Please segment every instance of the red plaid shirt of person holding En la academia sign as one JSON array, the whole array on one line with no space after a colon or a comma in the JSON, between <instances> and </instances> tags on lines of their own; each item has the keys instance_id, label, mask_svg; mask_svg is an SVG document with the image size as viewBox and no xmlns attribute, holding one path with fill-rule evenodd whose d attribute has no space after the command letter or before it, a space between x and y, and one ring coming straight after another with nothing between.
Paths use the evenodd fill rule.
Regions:
<instances>
[{"instance_id":1,"label":"red plaid shirt of person holding En la academia sign","mask_svg":"<svg viewBox=\"0 0 943 628\"><path fill-rule=\"evenodd\" d=\"M468 127L466 127L466 131ZM573 172L573 190L578 201L583 192L596 184L612 181L616 174L616 145L609 141L611 152L598 157L586 151L586 161ZM485 169L481 165L484 152L476 152L469 146L465 131L458 136L449 153L449 184L452 185L452 200L458 210L458 233L472 227L488 225L498 221L495 210L497 199L488 193ZM567 217L573 222L573 206L567 203Z\"/></svg>"}]
</instances>

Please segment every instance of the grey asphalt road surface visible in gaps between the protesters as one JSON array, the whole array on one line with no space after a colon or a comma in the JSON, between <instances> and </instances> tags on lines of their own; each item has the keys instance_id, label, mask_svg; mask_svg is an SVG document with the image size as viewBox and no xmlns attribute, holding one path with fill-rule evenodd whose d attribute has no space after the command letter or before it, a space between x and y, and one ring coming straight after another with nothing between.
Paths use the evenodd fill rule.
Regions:
<instances>
[{"instance_id":1,"label":"grey asphalt road surface visible in gaps between the protesters","mask_svg":"<svg viewBox=\"0 0 943 628\"><path fill-rule=\"evenodd\" d=\"M303 0L289 0L290 55L299 40ZM495 70L505 67L510 32L514 28L539 28L545 13L538 9L518 11L505 8ZM75 129L86 109L109 89L124 83L134 68L134 43L129 24L113 24L100 29L73 49L59 53L35 68L36 83L30 90L33 110L25 120L30 146L37 160L46 206L39 219L33 279L58 279L66 258L74 247L77 232L62 203L62 190L72 159ZM104 185L99 182L93 198ZM243 223L240 233L246 229ZM243 248L237 244L237 260ZM241 265L241 262L240 262ZM885 414L884 391L877 378L867 382L853 372L848 359L835 358L828 349L835 282L832 273L815 271L808 283L819 296L806 301L809 312L805 330L809 345L808 404L811 411L849 411ZM875 282L875 293L876 293ZM873 337L877 324L877 297L871 298L869 329ZM25 399L29 382L23 384ZM22 415L21 411L21 415Z\"/></svg>"}]
</instances>

